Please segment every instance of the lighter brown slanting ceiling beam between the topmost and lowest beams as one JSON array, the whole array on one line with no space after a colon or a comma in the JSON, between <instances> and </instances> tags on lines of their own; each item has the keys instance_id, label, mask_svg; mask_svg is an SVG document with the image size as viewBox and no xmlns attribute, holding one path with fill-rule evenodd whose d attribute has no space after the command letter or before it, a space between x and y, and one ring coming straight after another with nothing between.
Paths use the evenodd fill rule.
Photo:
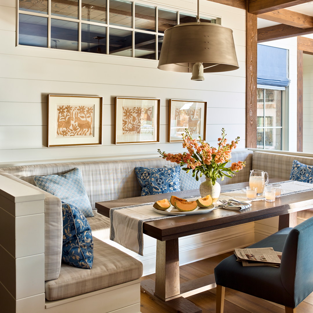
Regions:
<instances>
[{"instance_id":1,"label":"lighter brown slanting ceiling beam between the topmost and lowest beams","mask_svg":"<svg viewBox=\"0 0 313 313\"><path fill-rule=\"evenodd\" d=\"M300 28L312 28L313 27L313 17L298 13L295 11L290 11L286 9L280 9L268 13L259 14L258 18L263 18L269 21L291 25Z\"/></svg>"}]
</instances>

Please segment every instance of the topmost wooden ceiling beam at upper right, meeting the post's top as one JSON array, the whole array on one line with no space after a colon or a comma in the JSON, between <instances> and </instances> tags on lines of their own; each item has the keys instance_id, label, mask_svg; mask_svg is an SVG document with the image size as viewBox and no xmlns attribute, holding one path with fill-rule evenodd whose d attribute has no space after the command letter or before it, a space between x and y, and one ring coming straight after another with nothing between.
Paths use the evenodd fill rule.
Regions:
<instances>
[{"instance_id":1,"label":"topmost wooden ceiling beam at upper right, meeting the post's top","mask_svg":"<svg viewBox=\"0 0 313 313\"><path fill-rule=\"evenodd\" d=\"M310 1L312 0L247 0L248 12L252 14L267 13Z\"/></svg>"}]
</instances>

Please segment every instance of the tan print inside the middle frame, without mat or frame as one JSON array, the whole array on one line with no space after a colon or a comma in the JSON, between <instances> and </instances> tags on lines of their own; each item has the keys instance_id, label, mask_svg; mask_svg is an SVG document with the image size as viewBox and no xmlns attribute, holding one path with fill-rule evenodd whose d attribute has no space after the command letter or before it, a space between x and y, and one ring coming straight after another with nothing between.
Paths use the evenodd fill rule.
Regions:
<instances>
[{"instance_id":1,"label":"tan print inside the middle frame, without mat or frame","mask_svg":"<svg viewBox=\"0 0 313 313\"><path fill-rule=\"evenodd\" d=\"M153 135L153 106L122 107L123 135Z\"/></svg>"}]
</instances>

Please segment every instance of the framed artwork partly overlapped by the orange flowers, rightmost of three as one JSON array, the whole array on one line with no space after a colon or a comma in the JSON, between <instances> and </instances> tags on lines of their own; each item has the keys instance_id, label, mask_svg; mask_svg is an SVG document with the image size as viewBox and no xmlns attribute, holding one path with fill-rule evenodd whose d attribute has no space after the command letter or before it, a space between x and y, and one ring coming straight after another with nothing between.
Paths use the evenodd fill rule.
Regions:
<instances>
[{"instance_id":1,"label":"framed artwork partly overlapped by the orange flowers, rightmost of three","mask_svg":"<svg viewBox=\"0 0 313 313\"><path fill-rule=\"evenodd\" d=\"M182 142L182 133L187 128L192 138L205 140L207 102L192 100L169 100L168 141Z\"/></svg>"}]
</instances>

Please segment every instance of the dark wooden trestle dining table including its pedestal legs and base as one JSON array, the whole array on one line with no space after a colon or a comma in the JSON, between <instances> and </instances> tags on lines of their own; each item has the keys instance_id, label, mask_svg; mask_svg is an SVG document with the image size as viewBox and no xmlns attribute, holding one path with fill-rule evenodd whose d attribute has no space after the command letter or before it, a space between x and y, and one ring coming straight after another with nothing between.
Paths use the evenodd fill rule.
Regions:
<instances>
[{"instance_id":1,"label":"dark wooden trestle dining table including its pedestal legs and base","mask_svg":"<svg viewBox=\"0 0 313 313\"><path fill-rule=\"evenodd\" d=\"M269 183L279 182L270 179ZM249 182L223 185L223 190L244 188ZM179 198L193 197L199 190L163 193L158 195L98 202L98 213L110 217L110 209L128 205L151 203L172 195ZM214 274L180 284L178 238L207 232L210 230L258 221L279 216L278 228L294 227L297 224L297 212L313 208L313 191L296 193L276 198L275 202L255 201L242 211L223 208L209 213L190 214L165 218L143 223L143 233L156 238L156 276L143 280L141 288L156 302L171 312L201 313L202 310L186 297L216 287Z\"/></svg>"}]
</instances>

